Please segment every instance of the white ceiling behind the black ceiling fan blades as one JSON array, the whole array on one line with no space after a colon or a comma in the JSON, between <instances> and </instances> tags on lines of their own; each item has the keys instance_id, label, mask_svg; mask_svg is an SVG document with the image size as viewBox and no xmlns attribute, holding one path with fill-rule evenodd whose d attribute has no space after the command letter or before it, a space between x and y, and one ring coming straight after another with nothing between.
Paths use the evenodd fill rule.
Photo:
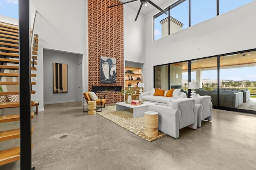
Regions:
<instances>
[{"instance_id":1,"label":"white ceiling behind the black ceiling fan blades","mask_svg":"<svg viewBox=\"0 0 256 170\"><path fill-rule=\"evenodd\" d=\"M128 2L128 1L130 1L130 0L120 0L121 2ZM156 4L157 6L160 6L160 5L162 5L162 4L164 4L165 2L167 2L168 0L151 0L151 2L153 2L154 4ZM133 10L135 10L135 11L138 11L139 10L139 8L140 8L140 4L141 4L141 2L140 2L140 0L137 0L137 1L134 1L134 2L129 2L129 3L127 3L127 4L124 4L124 5L126 5L126 6L128 6L129 8L132 8ZM147 4L147 6L145 6L144 4L143 4L143 6L142 6L142 8L141 8L141 10L140 10L140 14L144 14L144 15L146 15L146 14L148 14L148 13L150 13L151 11L153 11L153 10L155 10L156 8L154 7L154 6L152 6L150 3L146 3ZM113 4L114 5L114 4ZM113 7L114 8L114 7ZM161 8L161 7L160 7ZM137 14L137 13L136 13ZM135 16L136 16L136 14L135 14Z\"/></svg>"}]
</instances>

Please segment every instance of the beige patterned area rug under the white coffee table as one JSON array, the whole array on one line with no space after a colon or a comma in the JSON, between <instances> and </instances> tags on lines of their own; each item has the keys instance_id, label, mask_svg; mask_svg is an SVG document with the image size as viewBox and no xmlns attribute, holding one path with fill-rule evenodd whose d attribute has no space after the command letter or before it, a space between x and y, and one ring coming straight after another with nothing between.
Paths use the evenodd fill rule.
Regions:
<instances>
[{"instance_id":1,"label":"beige patterned area rug under the white coffee table","mask_svg":"<svg viewBox=\"0 0 256 170\"><path fill-rule=\"evenodd\" d=\"M102 109L102 112L97 113L150 142L166 135L158 132L157 137L146 136L144 134L144 117L133 117L132 109L116 111L116 106L108 106Z\"/></svg>"}]
</instances>

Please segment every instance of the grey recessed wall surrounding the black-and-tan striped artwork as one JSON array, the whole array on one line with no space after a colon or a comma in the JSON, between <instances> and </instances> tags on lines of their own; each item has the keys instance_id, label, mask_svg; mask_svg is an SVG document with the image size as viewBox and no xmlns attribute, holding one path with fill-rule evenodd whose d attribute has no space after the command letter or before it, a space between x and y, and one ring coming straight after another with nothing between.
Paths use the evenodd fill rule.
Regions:
<instances>
[{"instance_id":1,"label":"grey recessed wall surrounding the black-and-tan striped artwork","mask_svg":"<svg viewBox=\"0 0 256 170\"><path fill-rule=\"evenodd\" d=\"M78 101L79 58L82 58L82 56L78 54L44 49L44 104ZM52 63L68 64L68 93L53 93Z\"/></svg>"}]
</instances>

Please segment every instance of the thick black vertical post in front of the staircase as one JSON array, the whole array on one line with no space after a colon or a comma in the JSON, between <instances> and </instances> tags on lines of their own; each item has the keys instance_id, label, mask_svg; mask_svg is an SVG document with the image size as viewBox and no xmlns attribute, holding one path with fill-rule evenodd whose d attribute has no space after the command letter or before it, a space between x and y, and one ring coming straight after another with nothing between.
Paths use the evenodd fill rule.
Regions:
<instances>
[{"instance_id":1,"label":"thick black vertical post in front of the staircase","mask_svg":"<svg viewBox=\"0 0 256 170\"><path fill-rule=\"evenodd\" d=\"M19 0L20 169L31 170L30 0Z\"/></svg>"}]
</instances>

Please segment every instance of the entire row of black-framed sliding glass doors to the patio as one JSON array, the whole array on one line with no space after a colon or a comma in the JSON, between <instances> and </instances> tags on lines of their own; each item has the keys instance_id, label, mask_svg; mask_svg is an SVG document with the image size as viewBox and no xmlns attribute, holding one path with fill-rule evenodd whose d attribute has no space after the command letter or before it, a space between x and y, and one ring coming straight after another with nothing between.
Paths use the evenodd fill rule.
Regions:
<instances>
[{"instance_id":1,"label":"entire row of black-framed sliding glass doors to the patio","mask_svg":"<svg viewBox=\"0 0 256 170\"><path fill-rule=\"evenodd\" d=\"M188 82L198 82L196 94L211 96L215 108L256 111L256 51L154 66L154 72L154 88L189 91Z\"/></svg>"}]
</instances>

